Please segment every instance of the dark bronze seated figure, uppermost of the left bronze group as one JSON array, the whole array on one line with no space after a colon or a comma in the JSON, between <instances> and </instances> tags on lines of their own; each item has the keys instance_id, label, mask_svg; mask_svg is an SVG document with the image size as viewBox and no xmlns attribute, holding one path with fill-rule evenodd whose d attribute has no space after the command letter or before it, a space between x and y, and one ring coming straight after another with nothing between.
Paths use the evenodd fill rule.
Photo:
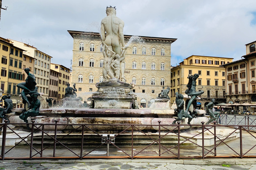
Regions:
<instances>
[{"instance_id":1,"label":"dark bronze seated figure, uppermost of the left bronze group","mask_svg":"<svg viewBox=\"0 0 256 170\"><path fill-rule=\"evenodd\" d=\"M27 95L31 91L37 91L36 87L36 77L34 74L29 73L30 69L26 68L25 72L27 73L28 77L25 82L17 84L17 87L23 89L21 91L21 97L23 100L23 104L28 104L28 107L30 107L30 99L28 99ZM25 108L25 107L24 107Z\"/></svg>"}]
</instances>

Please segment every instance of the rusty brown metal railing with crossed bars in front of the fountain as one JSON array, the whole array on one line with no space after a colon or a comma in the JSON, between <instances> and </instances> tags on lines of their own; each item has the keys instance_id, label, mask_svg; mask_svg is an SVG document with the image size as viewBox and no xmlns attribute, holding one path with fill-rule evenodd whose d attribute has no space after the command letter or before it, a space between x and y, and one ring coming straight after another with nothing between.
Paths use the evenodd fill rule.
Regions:
<instances>
[{"instance_id":1,"label":"rusty brown metal railing with crossed bars in front of the fountain","mask_svg":"<svg viewBox=\"0 0 256 170\"><path fill-rule=\"evenodd\" d=\"M227 128L226 125L218 125L216 122L211 125L190 125L192 128L199 129L197 133L191 132L189 135L182 133L182 128L188 124L165 125L158 121L158 125L137 125L137 124L75 124L76 129L70 130L66 134L59 132L59 126L73 126L67 124L40 124L34 121L30 124L12 123L12 125L29 125L30 131L26 136L21 136L20 133L14 131L10 123L0 124L0 129L3 129L2 146L0 158L4 159L86 159L86 158L243 158L256 157L255 152L251 150L256 146L255 141L243 143L243 138L256 139L253 132L248 131L255 125L229 125L234 129L229 128L229 133L220 136L217 130ZM54 132L45 131L46 126L52 126ZM96 130L95 126L113 126L123 128L117 134L102 135ZM145 126L154 126L158 131L153 135L146 133L141 128ZM12 133L19 140L16 140L15 145L6 146L8 133ZM74 138L74 132L77 133ZM90 133L88 133L90 132ZM61 134L61 135L60 135ZM126 134L126 140L129 139L129 145L122 145L122 142L117 142L117 139ZM137 135L146 138L142 142L138 142ZM89 138L91 135L91 139ZM174 143L169 136L172 135ZM211 140L209 141L209 136ZM229 145L230 138L236 143L236 146ZM70 137L70 138L69 138ZM67 142L65 140L71 140ZM114 140L116 139L116 140ZM48 140L48 142L46 142ZM119 139L120 140L120 139ZM93 142L93 143L92 143ZM167 143L166 143L167 142ZM169 143L168 143L169 142ZM212 145L206 145L208 142ZM37 143L37 144L36 144ZM74 143L77 143L75 146ZM110 151L106 156L97 156L95 151L106 150L106 144L110 145ZM234 143L233 143L234 144ZM225 152L223 152L225 149ZM108 148L109 150L109 148ZM137 150L137 151L135 151ZM154 152L152 153L152 151ZM111 153L110 153L111 152ZM143 155L144 153L150 153Z\"/></svg>"}]
</instances>

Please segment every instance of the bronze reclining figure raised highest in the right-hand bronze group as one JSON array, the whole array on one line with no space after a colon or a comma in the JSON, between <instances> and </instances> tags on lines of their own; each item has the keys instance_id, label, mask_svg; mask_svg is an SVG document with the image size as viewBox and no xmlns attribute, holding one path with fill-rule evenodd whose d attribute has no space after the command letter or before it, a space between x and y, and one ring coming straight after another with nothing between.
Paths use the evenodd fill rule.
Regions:
<instances>
[{"instance_id":1,"label":"bronze reclining figure raised highest in the right-hand bronze group","mask_svg":"<svg viewBox=\"0 0 256 170\"><path fill-rule=\"evenodd\" d=\"M187 90L185 91L185 94L191 97L191 99L188 101L188 105L186 108L185 113L188 114L188 109L193 104L194 100L196 99L197 96L202 95L204 91L196 91L196 79L199 77L198 74L194 75L189 75L188 76L188 84L187 84Z\"/></svg>"}]
</instances>

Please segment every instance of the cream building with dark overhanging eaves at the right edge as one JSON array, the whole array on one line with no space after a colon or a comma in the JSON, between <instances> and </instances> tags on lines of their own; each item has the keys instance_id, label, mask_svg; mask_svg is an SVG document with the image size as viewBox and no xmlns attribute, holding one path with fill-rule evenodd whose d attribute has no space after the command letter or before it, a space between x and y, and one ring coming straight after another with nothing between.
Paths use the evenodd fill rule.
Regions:
<instances>
[{"instance_id":1,"label":"cream building with dark overhanging eaves at the right edge","mask_svg":"<svg viewBox=\"0 0 256 170\"><path fill-rule=\"evenodd\" d=\"M246 55L242 60L225 65L227 72L227 103L256 104L256 41L246 44Z\"/></svg>"}]
</instances>

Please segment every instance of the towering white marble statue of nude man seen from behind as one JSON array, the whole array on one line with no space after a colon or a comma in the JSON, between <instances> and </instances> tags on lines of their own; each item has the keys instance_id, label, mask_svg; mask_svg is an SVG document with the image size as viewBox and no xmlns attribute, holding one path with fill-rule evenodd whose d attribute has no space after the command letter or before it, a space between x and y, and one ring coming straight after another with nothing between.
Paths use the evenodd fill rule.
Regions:
<instances>
[{"instance_id":1,"label":"towering white marble statue of nude man seen from behind","mask_svg":"<svg viewBox=\"0 0 256 170\"><path fill-rule=\"evenodd\" d=\"M101 39L102 39L102 46L108 46L109 51L115 52L116 55L119 55L120 57L124 58L125 53L122 53L123 50L125 50L125 43L124 43L124 21L119 19L116 16L116 9L115 7L107 7L106 9L107 16L102 19L101 21ZM106 32L106 35L105 35ZM122 45L122 46L121 46ZM105 48L105 53L107 53L107 48ZM121 81L125 82L124 77L124 62L125 60L120 61L120 73L121 73ZM104 63L106 64L106 63ZM104 64L103 64L103 70L104 70ZM108 66L110 67L110 64L108 62ZM118 70L118 68L116 68ZM116 75L115 77L119 78L119 75Z\"/></svg>"}]
</instances>

